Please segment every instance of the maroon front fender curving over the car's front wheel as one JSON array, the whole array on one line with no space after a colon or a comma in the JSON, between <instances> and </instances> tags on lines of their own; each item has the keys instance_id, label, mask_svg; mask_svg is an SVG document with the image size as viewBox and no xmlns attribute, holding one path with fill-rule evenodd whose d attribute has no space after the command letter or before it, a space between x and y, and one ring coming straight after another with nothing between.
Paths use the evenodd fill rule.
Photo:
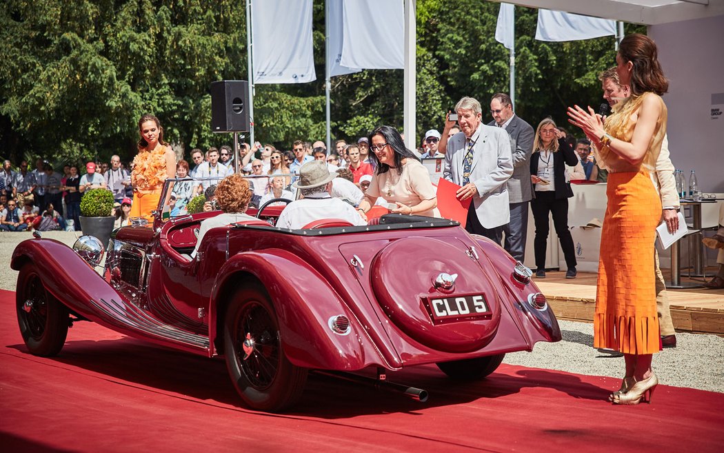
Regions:
<instances>
[{"instance_id":1,"label":"maroon front fender curving over the car's front wheel","mask_svg":"<svg viewBox=\"0 0 724 453\"><path fill-rule=\"evenodd\" d=\"M90 308L90 301L121 300L121 296L75 250L51 239L29 239L15 247L10 267L15 271L25 263L35 263L43 286L56 299L80 316L108 326ZM102 302L101 302L102 303Z\"/></svg>"}]
</instances>

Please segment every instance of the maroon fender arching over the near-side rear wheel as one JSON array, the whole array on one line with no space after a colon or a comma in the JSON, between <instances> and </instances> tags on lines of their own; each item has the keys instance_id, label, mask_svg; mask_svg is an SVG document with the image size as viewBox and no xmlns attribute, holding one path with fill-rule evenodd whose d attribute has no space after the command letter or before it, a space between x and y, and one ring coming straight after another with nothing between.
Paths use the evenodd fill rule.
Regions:
<instances>
[{"instance_id":1,"label":"maroon fender arching over the near-side rear wheel","mask_svg":"<svg viewBox=\"0 0 724 453\"><path fill-rule=\"evenodd\" d=\"M216 344L216 336L223 337L225 299L244 275L260 281L269 293L290 362L305 368L347 371L371 364L395 368L384 362L329 282L298 256L281 249L239 253L224 263L211 292L211 344ZM337 315L350 320L349 334L336 334L329 327L329 318Z\"/></svg>"}]
</instances>

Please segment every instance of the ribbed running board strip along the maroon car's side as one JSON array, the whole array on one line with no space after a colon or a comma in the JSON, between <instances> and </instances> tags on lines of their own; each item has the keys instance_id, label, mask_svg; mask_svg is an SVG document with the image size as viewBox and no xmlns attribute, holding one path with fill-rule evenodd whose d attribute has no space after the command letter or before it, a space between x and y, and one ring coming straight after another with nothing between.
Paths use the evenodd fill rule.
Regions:
<instances>
[{"instance_id":1,"label":"ribbed running board strip along the maroon car's side","mask_svg":"<svg viewBox=\"0 0 724 453\"><path fill-rule=\"evenodd\" d=\"M90 300L90 305L96 308L97 313L104 313L104 321L117 326L123 333L151 339L155 342L167 344L174 349L190 350L191 352L206 352L209 355L209 336L192 334L169 324L161 323L156 318L132 304L104 299L96 302Z\"/></svg>"}]
</instances>

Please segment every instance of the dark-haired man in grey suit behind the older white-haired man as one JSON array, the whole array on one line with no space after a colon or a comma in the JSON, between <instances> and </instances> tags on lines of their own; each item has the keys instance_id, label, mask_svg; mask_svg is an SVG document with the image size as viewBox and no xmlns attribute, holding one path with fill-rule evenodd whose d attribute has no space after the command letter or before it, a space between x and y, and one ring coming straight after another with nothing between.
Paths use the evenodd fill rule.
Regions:
<instances>
[{"instance_id":1,"label":"dark-haired man in grey suit behind the older white-haired man","mask_svg":"<svg viewBox=\"0 0 724 453\"><path fill-rule=\"evenodd\" d=\"M513 153L513 176L508 179L510 222L505 224L505 250L523 263L528 233L528 204L533 198L530 161L535 132L530 124L513 111L510 96L496 93L490 101L490 114L494 121L489 126L505 129L510 135L510 151Z\"/></svg>"}]
</instances>

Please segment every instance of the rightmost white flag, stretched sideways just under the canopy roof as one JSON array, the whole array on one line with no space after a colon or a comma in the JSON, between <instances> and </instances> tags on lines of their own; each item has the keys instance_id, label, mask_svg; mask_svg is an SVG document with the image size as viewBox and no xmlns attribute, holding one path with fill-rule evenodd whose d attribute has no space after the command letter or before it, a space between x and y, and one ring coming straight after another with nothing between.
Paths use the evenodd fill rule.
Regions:
<instances>
[{"instance_id":1,"label":"rightmost white flag, stretched sideways just under the canopy roof","mask_svg":"<svg viewBox=\"0 0 724 453\"><path fill-rule=\"evenodd\" d=\"M609 35L616 35L615 20L548 9L538 10L538 41L578 41Z\"/></svg>"}]
</instances>

